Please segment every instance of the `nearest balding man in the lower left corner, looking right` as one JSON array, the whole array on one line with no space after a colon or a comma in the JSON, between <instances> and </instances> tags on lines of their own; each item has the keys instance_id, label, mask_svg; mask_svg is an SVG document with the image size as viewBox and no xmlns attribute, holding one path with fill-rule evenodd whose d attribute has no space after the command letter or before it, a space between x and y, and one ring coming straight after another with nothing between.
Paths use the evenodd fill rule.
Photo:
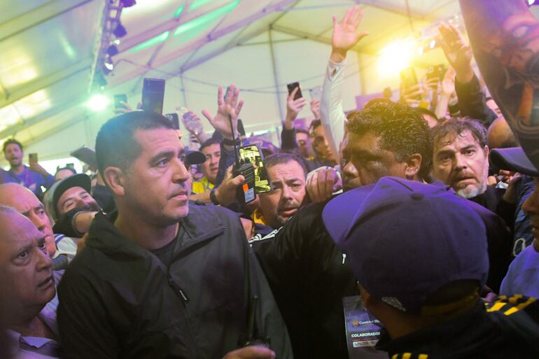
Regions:
<instances>
[{"instance_id":1,"label":"nearest balding man in the lower left corner, looking right","mask_svg":"<svg viewBox=\"0 0 539 359\"><path fill-rule=\"evenodd\" d=\"M61 272L52 271L45 235L18 211L0 205L1 302L10 352L17 358L58 358L55 283ZM43 356L43 357L42 357Z\"/></svg>"}]
</instances>

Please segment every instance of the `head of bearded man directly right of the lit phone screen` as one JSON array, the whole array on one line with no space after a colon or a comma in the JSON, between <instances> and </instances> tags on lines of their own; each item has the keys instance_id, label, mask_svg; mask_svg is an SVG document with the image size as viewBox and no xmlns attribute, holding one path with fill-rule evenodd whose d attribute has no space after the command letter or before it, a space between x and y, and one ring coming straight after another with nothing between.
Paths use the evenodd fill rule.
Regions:
<instances>
[{"instance_id":1,"label":"head of bearded man directly right of the lit phone screen","mask_svg":"<svg viewBox=\"0 0 539 359\"><path fill-rule=\"evenodd\" d=\"M279 228L292 217L305 198L307 170L303 161L295 155L278 153L264 159L272 192L262 193L260 206L253 213L256 223Z\"/></svg>"}]
</instances>

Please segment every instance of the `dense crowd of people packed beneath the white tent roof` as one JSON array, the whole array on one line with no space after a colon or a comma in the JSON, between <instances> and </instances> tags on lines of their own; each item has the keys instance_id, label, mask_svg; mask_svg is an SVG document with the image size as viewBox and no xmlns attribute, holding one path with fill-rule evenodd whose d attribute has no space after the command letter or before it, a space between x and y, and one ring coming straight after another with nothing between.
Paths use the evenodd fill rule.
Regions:
<instances>
[{"instance_id":1,"label":"dense crowd of people packed beneath the white tent roof","mask_svg":"<svg viewBox=\"0 0 539 359\"><path fill-rule=\"evenodd\" d=\"M357 6L333 17L314 119L295 127L296 88L280 147L239 131L235 85L202 111L213 134L125 104L90 175L26 166L5 141L0 357L539 358L539 22L488 2L461 1L471 46L440 27L442 80L348 114L367 32ZM239 144L271 184L250 202Z\"/></svg>"}]
</instances>

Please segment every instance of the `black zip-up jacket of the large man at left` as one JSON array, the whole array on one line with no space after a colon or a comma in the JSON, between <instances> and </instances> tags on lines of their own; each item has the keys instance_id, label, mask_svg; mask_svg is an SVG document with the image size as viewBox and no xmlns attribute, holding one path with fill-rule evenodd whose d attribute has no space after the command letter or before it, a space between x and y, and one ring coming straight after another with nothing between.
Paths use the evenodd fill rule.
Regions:
<instances>
[{"instance_id":1,"label":"black zip-up jacket of the large man at left","mask_svg":"<svg viewBox=\"0 0 539 359\"><path fill-rule=\"evenodd\" d=\"M191 202L168 268L99 213L86 248L59 286L66 358L218 359L255 327L278 358L292 358L286 327L239 218Z\"/></svg>"}]
</instances>

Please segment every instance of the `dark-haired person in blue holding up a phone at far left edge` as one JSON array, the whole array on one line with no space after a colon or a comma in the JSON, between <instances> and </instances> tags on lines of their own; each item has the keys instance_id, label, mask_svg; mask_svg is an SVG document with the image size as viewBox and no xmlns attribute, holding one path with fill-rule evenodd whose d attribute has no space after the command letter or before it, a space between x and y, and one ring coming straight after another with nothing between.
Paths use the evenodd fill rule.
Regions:
<instances>
[{"instance_id":1,"label":"dark-haired person in blue holding up a phone at far left edge","mask_svg":"<svg viewBox=\"0 0 539 359\"><path fill-rule=\"evenodd\" d=\"M3 155L10 165L3 183L20 183L34 192L38 198L43 196L41 186L49 188L55 183L54 176L38 164L37 153L30 153L29 166L25 166L22 162L25 153L22 144L16 139L8 139L3 143Z\"/></svg>"}]
</instances>

